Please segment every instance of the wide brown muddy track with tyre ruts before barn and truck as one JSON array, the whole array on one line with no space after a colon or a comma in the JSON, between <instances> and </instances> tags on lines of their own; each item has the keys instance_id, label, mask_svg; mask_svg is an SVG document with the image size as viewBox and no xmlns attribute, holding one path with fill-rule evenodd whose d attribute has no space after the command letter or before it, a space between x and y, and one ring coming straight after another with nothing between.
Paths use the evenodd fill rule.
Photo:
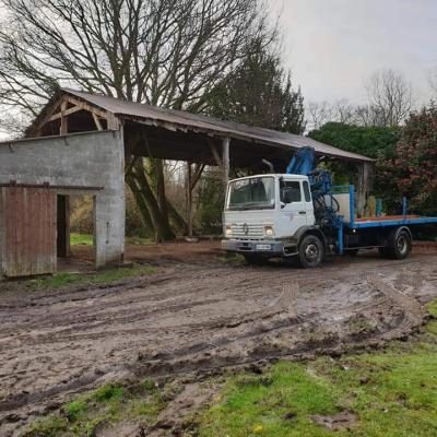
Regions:
<instances>
[{"instance_id":1,"label":"wide brown muddy track with tyre ruts before barn and truck","mask_svg":"<svg viewBox=\"0 0 437 437\"><path fill-rule=\"evenodd\" d=\"M182 258L154 257L155 275L107 287L3 285L0 435L20 435L29 420L113 379L200 377L382 345L417 331L424 304L437 297L429 249L405 261L333 257L315 270L226 265L203 250Z\"/></svg>"}]
</instances>

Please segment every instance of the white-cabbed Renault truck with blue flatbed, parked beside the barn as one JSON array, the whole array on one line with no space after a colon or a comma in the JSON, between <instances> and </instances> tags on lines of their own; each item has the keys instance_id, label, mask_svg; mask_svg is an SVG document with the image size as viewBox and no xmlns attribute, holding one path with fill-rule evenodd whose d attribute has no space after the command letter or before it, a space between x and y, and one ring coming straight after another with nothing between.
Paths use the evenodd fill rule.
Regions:
<instances>
[{"instance_id":1,"label":"white-cabbed Renault truck with blue flatbed, parked beside the barn","mask_svg":"<svg viewBox=\"0 0 437 437\"><path fill-rule=\"evenodd\" d=\"M403 259L412 248L411 226L437 223L437 217L408 215L406 208L401 215L356 218L354 187L332 187L327 178L323 189L318 184L323 178L315 173L229 181L223 249L241 253L249 263L296 257L304 268L319 265L326 253L356 255L363 248Z\"/></svg>"}]
</instances>

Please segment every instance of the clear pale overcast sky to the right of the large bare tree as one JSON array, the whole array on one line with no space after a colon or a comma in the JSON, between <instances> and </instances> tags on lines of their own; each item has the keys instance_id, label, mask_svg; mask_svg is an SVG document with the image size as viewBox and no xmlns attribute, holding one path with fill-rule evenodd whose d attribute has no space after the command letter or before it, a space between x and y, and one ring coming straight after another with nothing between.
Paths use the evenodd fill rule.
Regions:
<instances>
[{"instance_id":1,"label":"clear pale overcast sky to the right of the large bare tree","mask_svg":"<svg viewBox=\"0 0 437 437\"><path fill-rule=\"evenodd\" d=\"M309 101L365 99L364 82L392 68L429 99L437 68L437 0L270 0L284 58Z\"/></svg>"}]
</instances>

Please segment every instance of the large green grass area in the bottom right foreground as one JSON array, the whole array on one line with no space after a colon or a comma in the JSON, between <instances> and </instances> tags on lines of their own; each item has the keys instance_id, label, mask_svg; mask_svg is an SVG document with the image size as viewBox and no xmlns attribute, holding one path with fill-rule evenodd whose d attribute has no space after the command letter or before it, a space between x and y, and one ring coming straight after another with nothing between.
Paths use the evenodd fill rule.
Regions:
<instances>
[{"instance_id":1,"label":"large green grass area in the bottom right foreground","mask_svg":"<svg viewBox=\"0 0 437 437\"><path fill-rule=\"evenodd\" d=\"M437 300L428 306L437 316ZM202 437L437 436L437 321L417 340L339 359L279 363L263 375L233 376L198 417ZM333 432L311 415L352 411L357 421Z\"/></svg>"}]
</instances>

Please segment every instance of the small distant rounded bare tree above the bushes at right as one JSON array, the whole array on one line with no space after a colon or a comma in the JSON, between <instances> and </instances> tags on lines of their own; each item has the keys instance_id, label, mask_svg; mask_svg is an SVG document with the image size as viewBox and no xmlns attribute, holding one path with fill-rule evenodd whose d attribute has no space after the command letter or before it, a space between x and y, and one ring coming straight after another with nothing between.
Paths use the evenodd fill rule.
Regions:
<instances>
[{"instance_id":1,"label":"small distant rounded bare tree above the bushes at right","mask_svg":"<svg viewBox=\"0 0 437 437\"><path fill-rule=\"evenodd\" d=\"M379 126L399 126L413 107L412 87L393 70L375 72L366 84L368 113Z\"/></svg>"}]
</instances>

